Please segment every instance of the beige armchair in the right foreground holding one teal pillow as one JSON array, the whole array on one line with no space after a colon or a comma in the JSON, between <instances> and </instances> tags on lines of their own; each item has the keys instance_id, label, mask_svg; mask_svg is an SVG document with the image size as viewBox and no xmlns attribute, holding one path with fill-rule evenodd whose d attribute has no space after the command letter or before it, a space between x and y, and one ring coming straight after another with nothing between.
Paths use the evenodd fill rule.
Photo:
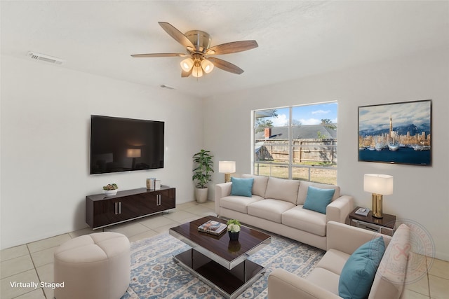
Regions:
<instances>
[{"instance_id":1,"label":"beige armchair in the right foreground holding one teal pillow","mask_svg":"<svg viewBox=\"0 0 449 299\"><path fill-rule=\"evenodd\" d=\"M369 293L366 296L368 299L402 298L404 285L419 278L420 273L426 273L425 258L420 262L410 251L410 228L406 224L400 225L392 238L334 221L328 223L327 230L327 252L314 270L306 278L283 269L273 270L268 277L268 299L341 299L340 275L347 260L361 245L380 236L386 249L372 284L368 283L364 290ZM413 264L424 265L424 268L420 270ZM354 285L360 286L357 277L351 279Z\"/></svg>"}]
</instances>

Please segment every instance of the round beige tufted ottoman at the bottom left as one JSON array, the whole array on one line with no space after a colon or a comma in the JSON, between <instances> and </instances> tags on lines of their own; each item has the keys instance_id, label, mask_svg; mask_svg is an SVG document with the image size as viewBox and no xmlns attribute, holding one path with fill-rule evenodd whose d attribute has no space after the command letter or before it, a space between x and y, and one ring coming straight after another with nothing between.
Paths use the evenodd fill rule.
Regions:
<instances>
[{"instance_id":1,"label":"round beige tufted ottoman at the bottom left","mask_svg":"<svg viewBox=\"0 0 449 299\"><path fill-rule=\"evenodd\" d=\"M130 281L129 240L116 232L76 237L55 250L54 267L56 299L121 298Z\"/></svg>"}]
</instances>

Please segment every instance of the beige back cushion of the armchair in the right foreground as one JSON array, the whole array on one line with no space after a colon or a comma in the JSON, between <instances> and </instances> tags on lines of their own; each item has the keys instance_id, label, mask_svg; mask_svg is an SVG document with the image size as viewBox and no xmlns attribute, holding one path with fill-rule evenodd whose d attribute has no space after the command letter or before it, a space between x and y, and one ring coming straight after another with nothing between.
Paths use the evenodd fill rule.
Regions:
<instances>
[{"instance_id":1,"label":"beige back cushion of the armchair in the right foreground","mask_svg":"<svg viewBox=\"0 0 449 299\"><path fill-rule=\"evenodd\" d=\"M394 232L377 268L369 299L397 299L401 296L406 282L410 249L410 228L401 224Z\"/></svg>"}]
</instances>

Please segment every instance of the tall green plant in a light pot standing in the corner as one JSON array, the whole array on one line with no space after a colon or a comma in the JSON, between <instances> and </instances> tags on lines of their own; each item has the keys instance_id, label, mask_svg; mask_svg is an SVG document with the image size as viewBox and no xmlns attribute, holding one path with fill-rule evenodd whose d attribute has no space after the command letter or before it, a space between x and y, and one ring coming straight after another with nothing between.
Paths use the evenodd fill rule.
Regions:
<instances>
[{"instance_id":1,"label":"tall green plant in a light pot standing in the corner","mask_svg":"<svg viewBox=\"0 0 449 299\"><path fill-rule=\"evenodd\" d=\"M210 151L201 150L194 154L194 175L192 181L196 182L195 197L197 202L206 202L208 200L208 182L212 181L213 155Z\"/></svg>"}]
</instances>

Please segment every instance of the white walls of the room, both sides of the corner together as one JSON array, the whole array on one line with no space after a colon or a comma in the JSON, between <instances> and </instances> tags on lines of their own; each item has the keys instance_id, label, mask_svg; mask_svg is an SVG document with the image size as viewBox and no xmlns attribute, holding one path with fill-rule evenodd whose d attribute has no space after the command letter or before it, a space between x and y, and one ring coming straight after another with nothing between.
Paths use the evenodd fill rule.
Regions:
<instances>
[{"instance_id":1,"label":"white walls of the room, both sides of the corner together","mask_svg":"<svg viewBox=\"0 0 449 299\"><path fill-rule=\"evenodd\" d=\"M384 212L424 225L436 256L449 260L448 53L436 49L203 100L3 55L0 248L86 226L85 196L109 182L139 188L147 176L156 176L177 188L177 203L193 200L192 154L199 148L215 155L213 183L224 180L219 160L236 160L237 172L250 172L251 110L338 100L342 192L369 207L363 174L394 175L394 195L384 197ZM418 99L433 100L433 165L358 162L357 107ZM166 167L88 175L91 114L165 121Z\"/></svg>"}]
</instances>

